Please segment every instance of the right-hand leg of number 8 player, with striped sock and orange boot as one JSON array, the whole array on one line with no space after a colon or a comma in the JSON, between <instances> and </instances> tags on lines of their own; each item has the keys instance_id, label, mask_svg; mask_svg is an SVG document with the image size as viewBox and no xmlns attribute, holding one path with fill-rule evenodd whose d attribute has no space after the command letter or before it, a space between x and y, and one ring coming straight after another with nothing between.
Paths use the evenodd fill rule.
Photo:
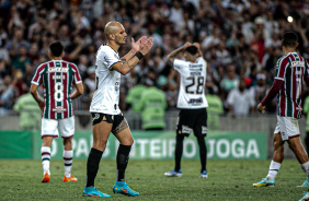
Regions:
<instances>
[{"instance_id":1,"label":"right-hand leg of number 8 player, with striped sock and orange boot","mask_svg":"<svg viewBox=\"0 0 309 201\"><path fill-rule=\"evenodd\" d=\"M71 175L72 162L73 162L73 150L72 150L72 138L64 138L64 161L65 161L65 176L64 182L77 182L78 179Z\"/></svg>"}]
</instances>

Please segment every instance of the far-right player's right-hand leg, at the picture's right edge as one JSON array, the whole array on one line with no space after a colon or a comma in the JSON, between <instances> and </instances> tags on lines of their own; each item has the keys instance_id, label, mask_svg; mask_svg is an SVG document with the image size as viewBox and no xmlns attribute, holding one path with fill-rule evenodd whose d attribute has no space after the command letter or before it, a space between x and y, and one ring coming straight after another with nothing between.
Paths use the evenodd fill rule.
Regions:
<instances>
[{"instance_id":1,"label":"far-right player's right-hand leg, at the picture's right edge","mask_svg":"<svg viewBox=\"0 0 309 201\"><path fill-rule=\"evenodd\" d=\"M290 150L294 152L297 161L299 162L304 173L306 174L306 180L301 186L298 187L309 187L309 162L308 162L308 155L301 144L300 138L291 138L288 139L288 145Z\"/></svg>"}]
</instances>

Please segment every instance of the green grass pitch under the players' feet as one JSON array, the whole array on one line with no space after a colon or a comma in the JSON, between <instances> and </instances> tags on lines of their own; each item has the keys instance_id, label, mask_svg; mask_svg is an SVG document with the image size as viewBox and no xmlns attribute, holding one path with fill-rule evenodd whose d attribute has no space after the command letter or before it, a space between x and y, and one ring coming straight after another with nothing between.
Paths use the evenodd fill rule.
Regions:
<instances>
[{"instance_id":1,"label":"green grass pitch under the players' feet","mask_svg":"<svg viewBox=\"0 0 309 201\"><path fill-rule=\"evenodd\" d=\"M85 159L75 159L72 174L78 182L62 182L64 165L60 159L50 161L49 184L41 184L41 161L0 159L0 200L102 200L83 198ZM110 193L105 200L299 200L302 191L296 188L305 180L305 174L296 159L284 161L274 188L254 188L268 170L270 161L216 161L207 162L208 179L199 179L199 161L183 159L180 178L167 178L164 172L173 168L173 161L129 161L126 181L140 193L129 198L114 194L116 163L102 159L95 187Z\"/></svg>"}]
</instances>

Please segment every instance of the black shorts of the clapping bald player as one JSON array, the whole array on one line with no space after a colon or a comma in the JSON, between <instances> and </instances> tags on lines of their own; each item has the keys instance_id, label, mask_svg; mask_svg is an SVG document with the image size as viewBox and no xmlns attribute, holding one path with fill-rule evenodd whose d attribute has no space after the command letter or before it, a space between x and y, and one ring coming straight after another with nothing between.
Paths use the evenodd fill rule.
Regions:
<instances>
[{"instance_id":1,"label":"black shorts of the clapping bald player","mask_svg":"<svg viewBox=\"0 0 309 201\"><path fill-rule=\"evenodd\" d=\"M121 115L107 115L107 114L100 114L100 113L91 113L92 115L92 126L100 123L101 121L107 121L113 123L112 130L115 130L118 125L125 119L123 114Z\"/></svg>"}]
</instances>

